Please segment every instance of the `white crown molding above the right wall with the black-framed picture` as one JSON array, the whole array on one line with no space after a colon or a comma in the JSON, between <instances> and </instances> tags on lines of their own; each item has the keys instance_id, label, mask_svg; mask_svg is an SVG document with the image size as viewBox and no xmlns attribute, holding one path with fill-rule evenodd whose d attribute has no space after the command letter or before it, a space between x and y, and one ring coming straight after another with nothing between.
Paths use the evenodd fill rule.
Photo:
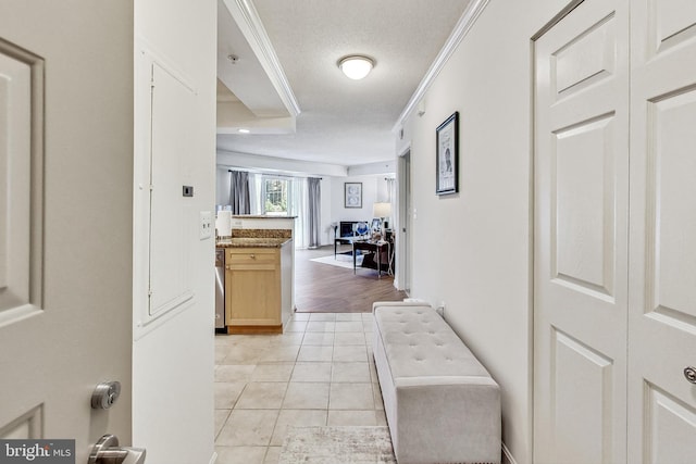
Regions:
<instances>
[{"instance_id":1,"label":"white crown molding above the right wall with the black-framed picture","mask_svg":"<svg viewBox=\"0 0 696 464\"><path fill-rule=\"evenodd\" d=\"M398 133L399 129L403 126L406 120L418 106L418 103L425 96L427 89L433 85L435 78L439 75L439 72L443 71L443 67L445 67L452 53L455 53L455 50L457 50L459 43L461 43L467 34L469 34L469 30L471 30L473 25L476 23L476 20L478 18L478 16L481 16L481 13L483 13L489 1L490 0L472 0L471 3L469 3L469 7L467 7L467 10L464 10L464 13L459 18L459 22L457 22L455 29L447 38L445 46L443 46L443 49L437 54L437 58L435 58L435 61L433 62L433 64L431 64L427 73L425 73L425 76L423 76L423 79L417 87L415 92L413 92L411 99L403 108L403 111L401 111L396 125L391 128L394 133Z\"/></svg>"}]
</instances>

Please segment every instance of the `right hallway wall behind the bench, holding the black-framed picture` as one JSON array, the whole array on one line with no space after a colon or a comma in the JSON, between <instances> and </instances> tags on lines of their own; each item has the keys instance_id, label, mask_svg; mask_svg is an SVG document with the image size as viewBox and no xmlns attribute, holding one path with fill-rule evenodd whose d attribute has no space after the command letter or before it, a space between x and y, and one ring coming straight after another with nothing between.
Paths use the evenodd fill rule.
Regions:
<instances>
[{"instance_id":1,"label":"right hallway wall behind the bench, holding the black-framed picture","mask_svg":"<svg viewBox=\"0 0 696 464\"><path fill-rule=\"evenodd\" d=\"M445 317L502 389L504 442L532 463L532 42L566 7L497 0L411 114L411 296ZM460 117L459 193L435 195L435 129Z\"/></svg>"}]
</instances>

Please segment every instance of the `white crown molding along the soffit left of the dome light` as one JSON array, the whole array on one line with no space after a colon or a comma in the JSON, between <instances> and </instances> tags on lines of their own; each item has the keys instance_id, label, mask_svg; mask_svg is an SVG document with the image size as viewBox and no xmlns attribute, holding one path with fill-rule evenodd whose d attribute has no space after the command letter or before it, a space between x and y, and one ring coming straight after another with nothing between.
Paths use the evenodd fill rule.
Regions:
<instances>
[{"instance_id":1,"label":"white crown molding along the soffit left of the dome light","mask_svg":"<svg viewBox=\"0 0 696 464\"><path fill-rule=\"evenodd\" d=\"M269 39L263 23L261 23L256 7L250 0L224 0L224 3L256 53L261 66L266 72L283 104L291 116L298 116L301 113L299 103L275 54L271 39Z\"/></svg>"}]
</instances>

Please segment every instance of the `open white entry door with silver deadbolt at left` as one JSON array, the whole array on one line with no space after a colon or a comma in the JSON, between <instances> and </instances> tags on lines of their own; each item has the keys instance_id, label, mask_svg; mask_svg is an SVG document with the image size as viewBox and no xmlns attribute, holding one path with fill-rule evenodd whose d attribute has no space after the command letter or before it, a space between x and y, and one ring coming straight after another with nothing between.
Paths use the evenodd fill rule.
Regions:
<instances>
[{"instance_id":1,"label":"open white entry door with silver deadbolt at left","mask_svg":"<svg viewBox=\"0 0 696 464\"><path fill-rule=\"evenodd\" d=\"M132 185L133 3L2 0L0 439L129 443Z\"/></svg>"}]
</instances>

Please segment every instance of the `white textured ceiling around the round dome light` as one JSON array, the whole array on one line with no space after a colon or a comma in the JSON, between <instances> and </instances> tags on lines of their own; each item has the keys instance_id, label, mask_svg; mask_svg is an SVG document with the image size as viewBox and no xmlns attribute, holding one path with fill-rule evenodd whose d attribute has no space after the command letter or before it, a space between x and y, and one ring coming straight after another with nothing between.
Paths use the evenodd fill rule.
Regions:
<instances>
[{"instance_id":1,"label":"white textured ceiling around the round dome light","mask_svg":"<svg viewBox=\"0 0 696 464\"><path fill-rule=\"evenodd\" d=\"M291 135L219 135L217 148L339 165L390 160L399 114L469 0L253 0L299 102ZM363 80L338 60L376 61Z\"/></svg>"}]
</instances>

